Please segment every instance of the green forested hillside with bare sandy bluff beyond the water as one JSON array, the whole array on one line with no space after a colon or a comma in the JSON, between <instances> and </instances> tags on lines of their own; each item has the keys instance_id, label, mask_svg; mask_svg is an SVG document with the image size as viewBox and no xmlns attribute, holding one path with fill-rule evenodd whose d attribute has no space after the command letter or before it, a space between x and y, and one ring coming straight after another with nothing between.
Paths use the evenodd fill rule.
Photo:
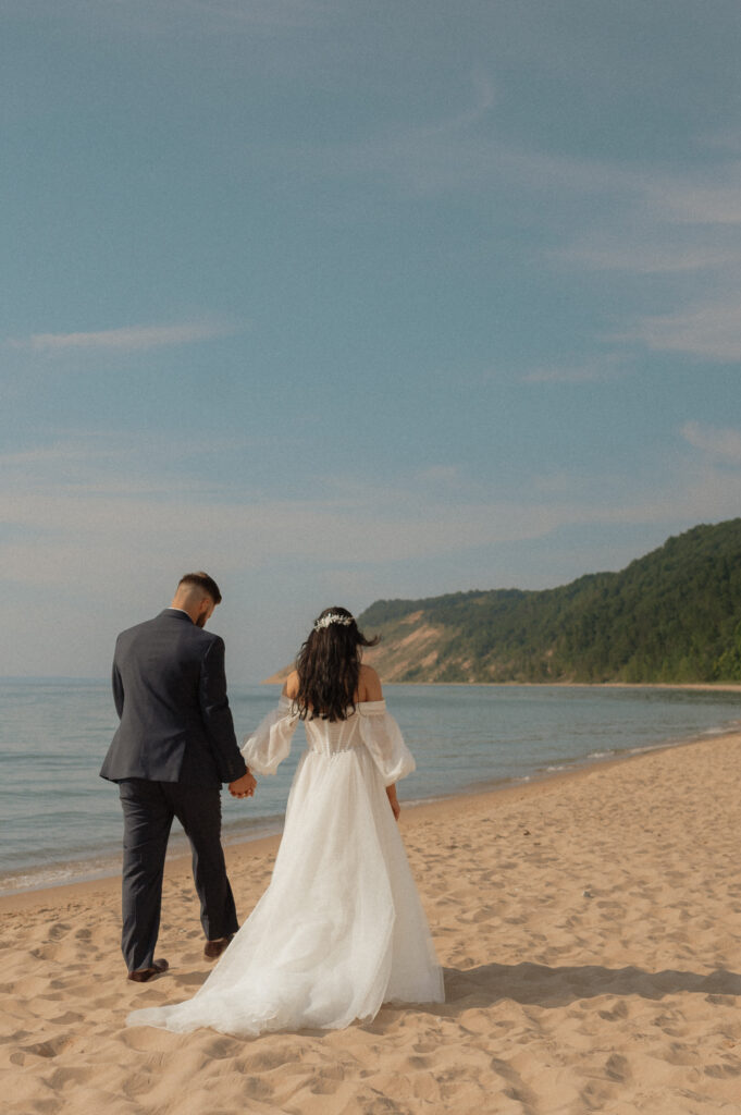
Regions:
<instances>
[{"instance_id":1,"label":"green forested hillside with bare sandy bluff beyond the water","mask_svg":"<svg viewBox=\"0 0 741 1115\"><path fill-rule=\"evenodd\" d=\"M540 592L379 600L359 618L394 681L741 681L741 518L620 573Z\"/></svg>"}]
</instances>

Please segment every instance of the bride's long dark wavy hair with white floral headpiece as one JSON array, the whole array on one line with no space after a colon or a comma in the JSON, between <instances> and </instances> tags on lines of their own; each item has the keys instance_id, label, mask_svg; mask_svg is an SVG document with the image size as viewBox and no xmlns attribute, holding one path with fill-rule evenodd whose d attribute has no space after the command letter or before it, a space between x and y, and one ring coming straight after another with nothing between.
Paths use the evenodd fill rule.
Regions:
<instances>
[{"instance_id":1,"label":"bride's long dark wavy hair with white floral headpiece","mask_svg":"<svg viewBox=\"0 0 741 1115\"><path fill-rule=\"evenodd\" d=\"M322 627L328 615L341 615L349 622ZM296 657L299 691L294 701L302 720L313 716L347 720L355 708L362 648L374 647L378 640L378 636L367 639L358 630L347 608L325 608L316 617Z\"/></svg>"}]
</instances>

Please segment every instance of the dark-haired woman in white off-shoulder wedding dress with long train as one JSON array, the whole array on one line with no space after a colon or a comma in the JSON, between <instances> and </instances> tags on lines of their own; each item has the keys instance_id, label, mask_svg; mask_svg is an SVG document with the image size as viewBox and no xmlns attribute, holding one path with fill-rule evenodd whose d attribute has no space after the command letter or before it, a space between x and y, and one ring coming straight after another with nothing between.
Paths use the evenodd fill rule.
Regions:
<instances>
[{"instance_id":1,"label":"dark-haired woman in white off-shoulder wedding dress with long train","mask_svg":"<svg viewBox=\"0 0 741 1115\"><path fill-rule=\"evenodd\" d=\"M305 721L270 886L192 999L135 1010L128 1025L337 1029L373 1018L383 1002L443 1000L396 824L396 783L415 760L378 675L360 663L371 644L344 608L314 622L277 708L242 749L253 772L275 774Z\"/></svg>"}]
</instances>

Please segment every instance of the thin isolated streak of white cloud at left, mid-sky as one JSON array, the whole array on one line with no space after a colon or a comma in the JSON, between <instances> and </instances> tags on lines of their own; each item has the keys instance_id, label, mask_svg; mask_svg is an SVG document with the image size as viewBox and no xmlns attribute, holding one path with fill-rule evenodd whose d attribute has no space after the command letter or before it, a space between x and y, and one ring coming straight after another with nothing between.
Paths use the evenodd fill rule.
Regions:
<instances>
[{"instance_id":1,"label":"thin isolated streak of white cloud at left, mid-sky","mask_svg":"<svg viewBox=\"0 0 741 1115\"><path fill-rule=\"evenodd\" d=\"M98 349L114 352L135 352L172 345L193 345L196 341L228 337L240 327L225 322L183 322L173 326L124 326L97 332L33 333L25 339L12 339L13 348L33 352L65 352L74 349Z\"/></svg>"}]
</instances>

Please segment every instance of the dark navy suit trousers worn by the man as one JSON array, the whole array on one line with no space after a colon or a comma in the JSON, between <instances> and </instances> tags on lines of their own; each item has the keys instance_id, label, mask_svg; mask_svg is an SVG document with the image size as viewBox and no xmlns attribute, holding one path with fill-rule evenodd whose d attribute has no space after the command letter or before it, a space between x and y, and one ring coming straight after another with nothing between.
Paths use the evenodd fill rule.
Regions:
<instances>
[{"instance_id":1,"label":"dark navy suit trousers worn by the man","mask_svg":"<svg viewBox=\"0 0 741 1115\"><path fill-rule=\"evenodd\" d=\"M125 778L121 951L129 971L150 968L159 932L165 852L173 818L193 851L201 924L209 941L236 933L236 908L221 843L221 786Z\"/></svg>"}]
</instances>

